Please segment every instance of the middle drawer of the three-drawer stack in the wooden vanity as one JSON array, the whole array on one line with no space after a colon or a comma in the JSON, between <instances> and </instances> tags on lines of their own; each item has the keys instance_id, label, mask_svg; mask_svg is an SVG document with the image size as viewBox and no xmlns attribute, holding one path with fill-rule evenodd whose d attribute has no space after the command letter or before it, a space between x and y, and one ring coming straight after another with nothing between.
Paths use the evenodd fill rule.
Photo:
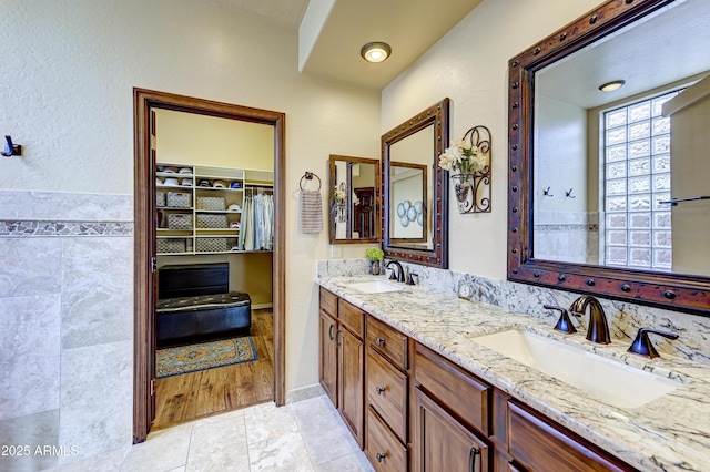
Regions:
<instances>
[{"instance_id":1,"label":"middle drawer of the three-drawer stack in the wooden vanity","mask_svg":"<svg viewBox=\"0 0 710 472\"><path fill-rule=\"evenodd\" d=\"M367 350L367 399L395 435L406 443L407 376L372 347Z\"/></svg>"}]
</instances>

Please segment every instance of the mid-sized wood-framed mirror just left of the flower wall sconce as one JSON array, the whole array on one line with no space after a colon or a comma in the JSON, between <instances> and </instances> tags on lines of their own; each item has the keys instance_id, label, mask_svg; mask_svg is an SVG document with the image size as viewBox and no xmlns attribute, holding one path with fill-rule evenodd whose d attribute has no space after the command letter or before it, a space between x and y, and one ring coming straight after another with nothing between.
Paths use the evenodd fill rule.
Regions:
<instances>
[{"instance_id":1,"label":"mid-sized wood-framed mirror just left of the flower wall sconce","mask_svg":"<svg viewBox=\"0 0 710 472\"><path fill-rule=\"evenodd\" d=\"M448 267L448 181L438 157L448 143L449 100L382 136L382 234L386 257Z\"/></svg>"}]
</instances>

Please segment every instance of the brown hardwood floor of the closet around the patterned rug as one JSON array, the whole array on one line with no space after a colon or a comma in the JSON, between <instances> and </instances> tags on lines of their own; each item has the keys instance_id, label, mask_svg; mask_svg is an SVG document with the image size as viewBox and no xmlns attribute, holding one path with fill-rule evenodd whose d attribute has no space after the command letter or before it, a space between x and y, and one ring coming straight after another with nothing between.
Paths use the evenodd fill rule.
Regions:
<instances>
[{"instance_id":1,"label":"brown hardwood floor of the closet around the patterned rug","mask_svg":"<svg viewBox=\"0 0 710 472\"><path fill-rule=\"evenodd\" d=\"M258 360L156 380L151 431L273 400L273 318L271 308L252 311Z\"/></svg>"}]
</instances>

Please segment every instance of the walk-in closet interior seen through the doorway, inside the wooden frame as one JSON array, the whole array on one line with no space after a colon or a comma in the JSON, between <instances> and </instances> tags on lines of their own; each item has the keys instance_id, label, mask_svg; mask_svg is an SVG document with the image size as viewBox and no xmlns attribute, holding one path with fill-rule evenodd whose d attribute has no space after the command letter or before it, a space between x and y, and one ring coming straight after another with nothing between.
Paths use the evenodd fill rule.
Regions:
<instances>
[{"instance_id":1,"label":"walk-in closet interior seen through the doorway, inside the wooden frame","mask_svg":"<svg viewBox=\"0 0 710 472\"><path fill-rule=\"evenodd\" d=\"M173 110L153 120L156 430L274 398L274 132ZM163 289L175 277L185 287Z\"/></svg>"}]
</instances>

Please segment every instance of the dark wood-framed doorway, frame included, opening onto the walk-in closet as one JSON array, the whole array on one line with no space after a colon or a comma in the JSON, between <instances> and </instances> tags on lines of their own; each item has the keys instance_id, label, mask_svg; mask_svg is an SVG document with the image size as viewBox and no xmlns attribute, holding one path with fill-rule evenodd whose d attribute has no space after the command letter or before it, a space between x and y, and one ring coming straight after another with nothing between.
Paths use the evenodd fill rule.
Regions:
<instances>
[{"instance_id":1,"label":"dark wood-framed doorway, frame included, opening onto the walk-in closet","mask_svg":"<svg viewBox=\"0 0 710 472\"><path fill-rule=\"evenodd\" d=\"M284 403L284 114L134 90L134 442Z\"/></svg>"}]
</instances>

